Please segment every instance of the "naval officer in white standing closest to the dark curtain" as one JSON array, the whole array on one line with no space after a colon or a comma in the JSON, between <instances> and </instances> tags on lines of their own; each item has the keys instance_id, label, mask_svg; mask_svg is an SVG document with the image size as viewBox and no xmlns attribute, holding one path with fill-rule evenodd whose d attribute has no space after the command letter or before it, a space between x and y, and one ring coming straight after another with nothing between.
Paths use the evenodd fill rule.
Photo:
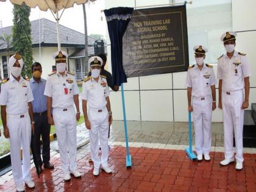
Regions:
<instances>
[{"instance_id":1,"label":"naval officer in white standing closest to the dark curtain","mask_svg":"<svg viewBox=\"0 0 256 192\"><path fill-rule=\"evenodd\" d=\"M108 168L108 127L112 124L109 90L107 80L100 76L101 57L94 56L88 60L91 76L84 79L82 105L85 126L90 130L90 152L93 160L93 175L99 175L99 168L111 173ZM87 113L88 109L88 113ZM101 160L99 160L99 141L101 143Z\"/></svg>"}]
</instances>

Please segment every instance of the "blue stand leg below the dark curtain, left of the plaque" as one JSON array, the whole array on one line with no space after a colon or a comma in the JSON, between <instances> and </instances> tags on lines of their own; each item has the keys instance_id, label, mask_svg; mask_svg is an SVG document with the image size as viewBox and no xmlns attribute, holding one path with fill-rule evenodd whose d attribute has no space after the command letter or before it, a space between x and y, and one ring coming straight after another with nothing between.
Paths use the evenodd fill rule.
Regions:
<instances>
[{"instance_id":1,"label":"blue stand leg below the dark curtain, left of the plaque","mask_svg":"<svg viewBox=\"0 0 256 192\"><path fill-rule=\"evenodd\" d=\"M132 157L129 152L128 144L128 133L127 133L127 124L126 124L126 105L124 103L124 85L121 84L121 93L122 93L122 102L123 102L123 116L124 116L124 135L126 137L126 166L132 166Z\"/></svg>"}]
</instances>

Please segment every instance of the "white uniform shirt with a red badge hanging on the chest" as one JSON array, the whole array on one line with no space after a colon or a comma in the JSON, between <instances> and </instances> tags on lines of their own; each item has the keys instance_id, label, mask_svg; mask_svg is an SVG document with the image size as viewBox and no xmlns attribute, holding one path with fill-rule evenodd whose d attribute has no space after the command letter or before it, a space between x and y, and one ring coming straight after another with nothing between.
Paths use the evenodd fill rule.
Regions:
<instances>
[{"instance_id":1,"label":"white uniform shirt with a red badge hanging on the chest","mask_svg":"<svg viewBox=\"0 0 256 192\"><path fill-rule=\"evenodd\" d=\"M66 92L65 92L66 90ZM52 107L68 108L74 105L73 96L79 94L76 78L67 72L49 75L44 95L52 98Z\"/></svg>"}]
</instances>

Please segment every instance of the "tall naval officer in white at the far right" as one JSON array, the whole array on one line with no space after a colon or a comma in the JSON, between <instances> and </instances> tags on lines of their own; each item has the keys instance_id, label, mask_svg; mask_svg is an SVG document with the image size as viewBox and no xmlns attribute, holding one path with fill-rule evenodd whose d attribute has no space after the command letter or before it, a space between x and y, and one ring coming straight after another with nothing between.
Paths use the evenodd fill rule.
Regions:
<instances>
[{"instance_id":1,"label":"tall naval officer in white at the far right","mask_svg":"<svg viewBox=\"0 0 256 192\"><path fill-rule=\"evenodd\" d=\"M243 169L244 109L249 106L249 76L251 71L246 54L235 51L235 32L222 34L226 54L218 59L219 108L223 111L225 159L221 165L235 161L233 135L235 133L236 170Z\"/></svg>"}]
</instances>

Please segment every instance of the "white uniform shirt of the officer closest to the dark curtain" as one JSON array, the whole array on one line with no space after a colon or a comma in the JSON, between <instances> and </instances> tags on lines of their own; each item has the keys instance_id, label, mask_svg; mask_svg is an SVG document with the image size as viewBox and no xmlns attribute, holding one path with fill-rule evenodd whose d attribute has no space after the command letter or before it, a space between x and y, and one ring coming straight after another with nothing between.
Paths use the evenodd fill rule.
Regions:
<instances>
[{"instance_id":1,"label":"white uniform shirt of the officer closest to the dark curtain","mask_svg":"<svg viewBox=\"0 0 256 192\"><path fill-rule=\"evenodd\" d=\"M107 105L105 98L109 96L107 80L99 77L96 82L92 77L87 82L83 82L82 99L87 101L87 106L101 109Z\"/></svg>"}]
</instances>

